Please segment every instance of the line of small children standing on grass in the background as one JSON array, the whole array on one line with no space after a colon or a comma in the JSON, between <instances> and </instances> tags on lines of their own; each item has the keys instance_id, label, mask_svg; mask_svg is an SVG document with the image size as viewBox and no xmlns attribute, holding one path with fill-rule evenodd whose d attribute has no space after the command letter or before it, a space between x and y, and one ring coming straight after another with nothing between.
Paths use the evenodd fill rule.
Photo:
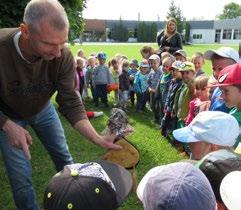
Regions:
<instances>
[{"instance_id":1,"label":"line of small children standing on grass in the background","mask_svg":"<svg viewBox=\"0 0 241 210\"><path fill-rule=\"evenodd\" d=\"M172 137L172 131L189 125L198 113L210 109L214 90L211 86L217 78L215 74L205 75L204 55L200 52L189 59L184 50L157 55L146 49L149 47L140 50L143 57L140 65L136 59L128 61L122 55L116 55L106 65L105 53L85 59L80 50L76 58L76 74L80 78L77 88L84 98L89 97L89 87L96 107L99 99L109 106L110 91L114 91L115 105L124 111L128 111L129 100L132 106L136 104L137 112L145 111L148 102L161 134L176 145L179 143ZM185 144L184 150L190 153Z\"/></svg>"}]
</instances>

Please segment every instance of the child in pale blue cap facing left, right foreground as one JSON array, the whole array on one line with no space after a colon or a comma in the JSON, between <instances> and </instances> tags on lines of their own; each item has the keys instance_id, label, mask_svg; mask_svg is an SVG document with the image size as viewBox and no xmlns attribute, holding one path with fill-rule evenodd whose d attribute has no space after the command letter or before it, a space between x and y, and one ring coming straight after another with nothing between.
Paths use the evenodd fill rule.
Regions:
<instances>
[{"instance_id":1,"label":"child in pale blue cap facing left, right foreground","mask_svg":"<svg viewBox=\"0 0 241 210\"><path fill-rule=\"evenodd\" d=\"M187 127L173 131L176 140L188 143L193 160L199 160L215 150L232 149L238 135L237 120L220 111L200 112Z\"/></svg>"}]
</instances>

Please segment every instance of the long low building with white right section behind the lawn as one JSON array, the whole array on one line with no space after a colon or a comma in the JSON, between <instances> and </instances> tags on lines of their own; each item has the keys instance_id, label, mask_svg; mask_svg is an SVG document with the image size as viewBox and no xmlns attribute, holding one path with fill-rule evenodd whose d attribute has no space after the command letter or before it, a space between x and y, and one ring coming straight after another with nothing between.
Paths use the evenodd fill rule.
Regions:
<instances>
[{"instance_id":1,"label":"long low building with white right section behind the lawn","mask_svg":"<svg viewBox=\"0 0 241 210\"><path fill-rule=\"evenodd\" d=\"M108 33L118 24L119 20L85 19L83 41L112 41L108 39ZM144 21L147 25L155 21ZM164 21L155 22L158 31L165 27ZM235 44L241 42L241 17L227 20L198 20L187 21L190 25L189 42L193 44ZM128 42L137 42L135 34L139 21L122 20L122 24L128 29L130 37Z\"/></svg>"}]
</instances>

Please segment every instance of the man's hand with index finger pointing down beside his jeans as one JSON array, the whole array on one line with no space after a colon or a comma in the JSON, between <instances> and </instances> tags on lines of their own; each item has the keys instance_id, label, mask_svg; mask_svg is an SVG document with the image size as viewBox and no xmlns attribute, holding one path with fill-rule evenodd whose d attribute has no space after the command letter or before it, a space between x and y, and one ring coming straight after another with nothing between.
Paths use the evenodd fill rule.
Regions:
<instances>
[{"instance_id":1,"label":"man's hand with index finger pointing down beside his jeans","mask_svg":"<svg viewBox=\"0 0 241 210\"><path fill-rule=\"evenodd\" d=\"M6 121L3 126L3 130L6 132L10 144L14 147L22 149L27 158L30 160L31 154L29 151L29 146L32 144L32 137L29 132L11 120Z\"/></svg>"}]
</instances>

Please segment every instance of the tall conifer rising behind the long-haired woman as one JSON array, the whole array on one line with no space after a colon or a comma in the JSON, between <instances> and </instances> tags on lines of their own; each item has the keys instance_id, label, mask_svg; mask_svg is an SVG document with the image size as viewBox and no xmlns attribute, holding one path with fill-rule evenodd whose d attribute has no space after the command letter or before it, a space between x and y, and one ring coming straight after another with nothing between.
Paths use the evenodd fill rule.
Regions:
<instances>
[{"instance_id":1,"label":"tall conifer rising behind the long-haired woman","mask_svg":"<svg viewBox=\"0 0 241 210\"><path fill-rule=\"evenodd\" d=\"M182 10L180 9L180 7L177 7L175 5L174 0L171 0L170 6L169 6L169 11L167 12L166 17L167 17L167 19L170 17L174 17L177 21L177 31L179 33L183 32L185 18L182 16Z\"/></svg>"}]
</instances>

